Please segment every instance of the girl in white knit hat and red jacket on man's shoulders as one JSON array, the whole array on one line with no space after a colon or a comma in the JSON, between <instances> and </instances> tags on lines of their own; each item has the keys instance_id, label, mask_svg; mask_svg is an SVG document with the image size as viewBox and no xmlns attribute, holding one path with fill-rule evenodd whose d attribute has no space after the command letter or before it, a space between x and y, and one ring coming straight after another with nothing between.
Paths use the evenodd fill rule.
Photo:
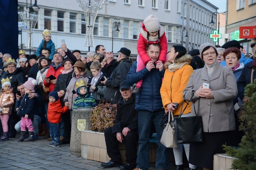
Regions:
<instances>
[{"instance_id":1,"label":"girl in white knit hat and red jacket on man's shoulders","mask_svg":"<svg viewBox=\"0 0 256 170\"><path fill-rule=\"evenodd\" d=\"M164 64L167 59L167 38L165 31L162 26L160 26L159 19L155 15L149 15L142 23L137 45L137 72L145 68L146 64L151 61L150 57L146 53L146 49L150 44L158 44L160 46L161 50L158 61L161 61ZM136 83L136 89L133 90L133 93L139 94L141 85L142 80Z\"/></svg>"}]
</instances>

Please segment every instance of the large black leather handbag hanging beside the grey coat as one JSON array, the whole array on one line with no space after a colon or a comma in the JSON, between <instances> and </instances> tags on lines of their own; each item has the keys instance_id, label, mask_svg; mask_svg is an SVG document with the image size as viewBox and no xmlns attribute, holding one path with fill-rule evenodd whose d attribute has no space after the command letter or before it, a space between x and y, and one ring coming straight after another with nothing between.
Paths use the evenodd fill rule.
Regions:
<instances>
[{"instance_id":1,"label":"large black leather handbag hanging beside the grey coat","mask_svg":"<svg viewBox=\"0 0 256 170\"><path fill-rule=\"evenodd\" d=\"M187 102L187 105L191 101L191 99ZM183 100L182 107L181 107L181 114L180 114L180 117L176 118L176 125L175 125L178 143L204 142L202 116L198 116L200 98L198 100L199 101L197 106L197 113L195 109L195 102L193 102L196 116L181 117L187 107L186 105L186 107L182 111L182 107L185 101Z\"/></svg>"}]
</instances>

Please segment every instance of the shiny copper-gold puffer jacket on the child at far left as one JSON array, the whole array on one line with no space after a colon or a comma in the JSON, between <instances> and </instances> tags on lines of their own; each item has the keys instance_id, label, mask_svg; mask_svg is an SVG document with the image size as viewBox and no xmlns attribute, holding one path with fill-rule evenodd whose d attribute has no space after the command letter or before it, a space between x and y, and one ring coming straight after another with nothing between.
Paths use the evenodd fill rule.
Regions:
<instances>
[{"instance_id":1,"label":"shiny copper-gold puffer jacket on the child at far left","mask_svg":"<svg viewBox=\"0 0 256 170\"><path fill-rule=\"evenodd\" d=\"M1 114L8 114L11 115L12 113L12 105L14 104L14 94L13 94L13 88L10 88L8 91L1 90L0 93L0 104L3 104Z\"/></svg>"}]
</instances>

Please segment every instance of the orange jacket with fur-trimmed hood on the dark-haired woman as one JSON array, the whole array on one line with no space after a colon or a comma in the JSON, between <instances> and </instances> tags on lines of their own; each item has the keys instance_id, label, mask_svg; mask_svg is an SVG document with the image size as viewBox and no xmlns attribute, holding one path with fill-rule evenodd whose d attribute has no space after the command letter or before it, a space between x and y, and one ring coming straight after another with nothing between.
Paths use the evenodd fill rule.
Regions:
<instances>
[{"instance_id":1,"label":"orange jacket with fur-trimmed hood on the dark-haired woman","mask_svg":"<svg viewBox=\"0 0 256 170\"><path fill-rule=\"evenodd\" d=\"M175 65L182 63L187 63L182 66L180 69L177 69L174 72L169 71L168 66L171 65L171 62L165 63L165 76L163 77L162 86L160 89L160 94L162 98L163 107L167 109L169 103L179 103L173 115L180 115L181 107L183 102L183 90L185 89L190 75L193 73L193 68L189 65L192 57L188 54L183 55L175 61ZM186 105L186 103L184 103ZM185 106L183 107L183 109ZM191 102L189 102L187 108L183 114L191 112Z\"/></svg>"}]
</instances>

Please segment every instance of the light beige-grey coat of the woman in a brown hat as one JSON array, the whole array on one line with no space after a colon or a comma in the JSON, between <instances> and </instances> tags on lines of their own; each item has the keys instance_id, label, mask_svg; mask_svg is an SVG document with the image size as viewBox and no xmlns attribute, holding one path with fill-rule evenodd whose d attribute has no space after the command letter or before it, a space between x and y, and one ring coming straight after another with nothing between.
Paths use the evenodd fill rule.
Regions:
<instances>
[{"instance_id":1,"label":"light beige-grey coat of the woman in a brown hat","mask_svg":"<svg viewBox=\"0 0 256 170\"><path fill-rule=\"evenodd\" d=\"M86 72L82 75L79 76L79 78L76 78L75 73L73 72L73 78L70 80L69 85L67 87L67 91L65 93L65 97L63 102L69 102L69 109L71 110L73 108L73 103L75 100L74 94L72 93L73 90L76 91L76 87L75 87L75 82L78 81L80 82L80 80L82 79L85 84L88 83L88 78L90 77L89 74L87 74Z\"/></svg>"}]
</instances>

